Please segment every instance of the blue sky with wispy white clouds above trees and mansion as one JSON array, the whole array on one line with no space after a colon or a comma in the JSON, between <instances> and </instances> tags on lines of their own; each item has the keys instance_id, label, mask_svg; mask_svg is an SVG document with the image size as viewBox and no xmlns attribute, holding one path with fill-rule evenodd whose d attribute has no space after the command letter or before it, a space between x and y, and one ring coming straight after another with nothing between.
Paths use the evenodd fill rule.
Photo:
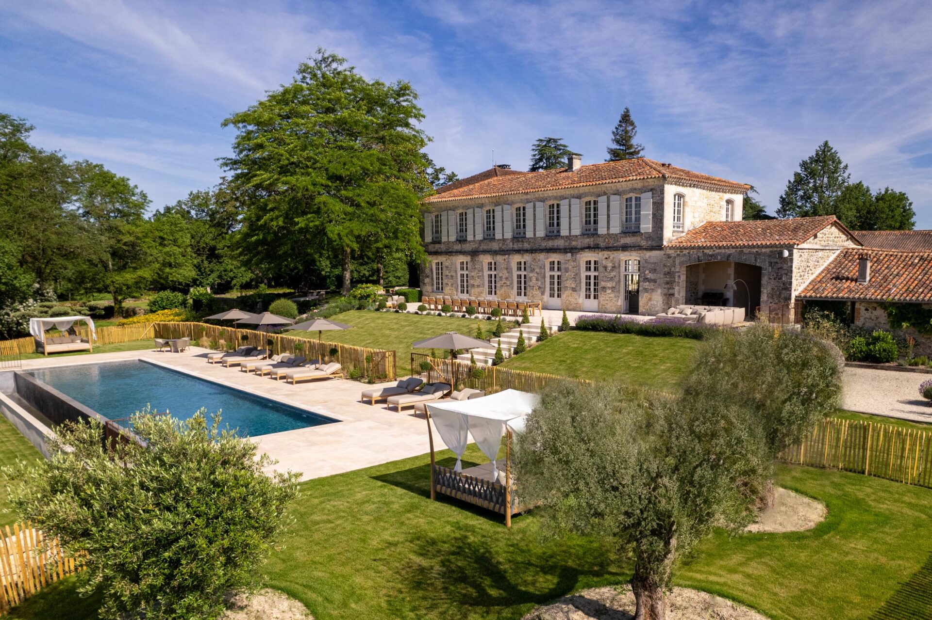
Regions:
<instances>
[{"instance_id":1,"label":"blue sky with wispy white clouds above trees and mansion","mask_svg":"<svg viewBox=\"0 0 932 620\"><path fill-rule=\"evenodd\" d=\"M776 6L779 4L779 6ZM645 155L760 189L829 140L932 228L924 2L0 0L0 110L34 142L171 203L217 181L220 128L317 47L420 94L434 160L527 169L557 136L603 161L625 105ZM493 155L494 152L494 155Z\"/></svg>"}]
</instances>

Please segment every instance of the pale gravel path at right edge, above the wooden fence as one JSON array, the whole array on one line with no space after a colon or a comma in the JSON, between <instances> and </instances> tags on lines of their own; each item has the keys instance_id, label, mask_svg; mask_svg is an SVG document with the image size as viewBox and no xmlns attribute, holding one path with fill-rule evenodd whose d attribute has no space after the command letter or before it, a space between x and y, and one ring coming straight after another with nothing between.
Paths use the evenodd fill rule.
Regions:
<instances>
[{"instance_id":1,"label":"pale gravel path at right edge, above the wooden fence","mask_svg":"<svg viewBox=\"0 0 932 620\"><path fill-rule=\"evenodd\" d=\"M919 384L926 379L932 379L932 374L846 367L842 377L842 407L932 423L932 407L919 396Z\"/></svg>"}]
</instances>

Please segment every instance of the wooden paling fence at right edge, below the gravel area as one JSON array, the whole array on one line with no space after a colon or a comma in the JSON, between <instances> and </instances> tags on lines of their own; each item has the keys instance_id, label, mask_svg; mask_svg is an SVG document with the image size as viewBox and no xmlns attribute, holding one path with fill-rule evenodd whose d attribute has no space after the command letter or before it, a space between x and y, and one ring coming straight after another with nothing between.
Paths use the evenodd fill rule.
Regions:
<instances>
[{"instance_id":1,"label":"wooden paling fence at right edge, below the gravel area","mask_svg":"<svg viewBox=\"0 0 932 620\"><path fill-rule=\"evenodd\" d=\"M932 431L918 428L827 418L780 457L932 488Z\"/></svg>"}]
</instances>

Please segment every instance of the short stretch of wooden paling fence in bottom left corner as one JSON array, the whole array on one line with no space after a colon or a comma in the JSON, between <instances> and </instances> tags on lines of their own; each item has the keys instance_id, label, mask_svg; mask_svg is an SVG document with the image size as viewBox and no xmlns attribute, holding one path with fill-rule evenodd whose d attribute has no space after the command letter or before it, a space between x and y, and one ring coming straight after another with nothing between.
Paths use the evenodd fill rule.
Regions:
<instances>
[{"instance_id":1,"label":"short stretch of wooden paling fence in bottom left corner","mask_svg":"<svg viewBox=\"0 0 932 620\"><path fill-rule=\"evenodd\" d=\"M29 523L0 529L0 614L80 568L57 538L47 539Z\"/></svg>"}]
</instances>

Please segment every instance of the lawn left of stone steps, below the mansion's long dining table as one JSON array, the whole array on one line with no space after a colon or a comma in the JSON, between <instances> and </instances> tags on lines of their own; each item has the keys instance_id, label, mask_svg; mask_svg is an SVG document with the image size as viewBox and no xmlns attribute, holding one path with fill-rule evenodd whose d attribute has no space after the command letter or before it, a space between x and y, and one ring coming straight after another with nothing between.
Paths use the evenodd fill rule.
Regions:
<instances>
[{"instance_id":1,"label":"lawn left of stone steps, below the mansion's long dining table","mask_svg":"<svg viewBox=\"0 0 932 620\"><path fill-rule=\"evenodd\" d=\"M411 373L411 343L445 331L459 331L468 336L475 335L475 326L482 324L482 329L490 331L492 321L479 321L473 318L428 317L426 315L409 315L394 312L367 312L351 310L332 317L339 323L352 325L351 330L324 331L322 338L328 343L353 344L376 349L394 349L398 355L398 375ZM317 338L317 332L293 330L290 336ZM430 353L429 349L418 349L418 353ZM438 355L443 353L438 350ZM448 355L449 352L447 351Z\"/></svg>"}]
</instances>

